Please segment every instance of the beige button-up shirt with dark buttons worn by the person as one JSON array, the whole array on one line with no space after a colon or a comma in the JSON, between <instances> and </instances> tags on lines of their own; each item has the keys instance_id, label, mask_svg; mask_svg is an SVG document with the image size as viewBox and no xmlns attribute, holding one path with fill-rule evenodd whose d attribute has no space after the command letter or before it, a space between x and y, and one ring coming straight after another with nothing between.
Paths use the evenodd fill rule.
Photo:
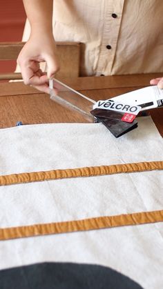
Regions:
<instances>
[{"instance_id":1,"label":"beige button-up shirt with dark buttons worn by the person","mask_svg":"<svg viewBox=\"0 0 163 289\"><path fill-rule=\"evenodd\" d=\"M54 0L53 28L83 43L82 76L163 72L162 0Z\"/></svg>"}]
</instances>

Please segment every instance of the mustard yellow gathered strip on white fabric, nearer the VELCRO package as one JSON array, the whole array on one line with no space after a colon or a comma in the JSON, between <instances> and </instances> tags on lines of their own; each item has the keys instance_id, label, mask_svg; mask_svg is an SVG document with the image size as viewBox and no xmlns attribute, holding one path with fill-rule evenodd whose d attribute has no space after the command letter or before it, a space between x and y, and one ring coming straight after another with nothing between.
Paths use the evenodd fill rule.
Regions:
<instances>
[{"instance_id":1,"label":"mustard yellow gathered strip on white fabric, nearer the VELCRO package","mask_svg":"<svg viewBox=\"0 0 163 289\"><path fill-rule=\"evenodd\" d=\"M93 177L126 172L143 172L147 170L163 170L163 161L123 163L111 166L70 168L65 170L48 170L46 172L23 172L20 174L0 176L0 186L12 185L15 183L29 183L33 181L46 181L52 179Z\"/></svg>"}]
</instances>

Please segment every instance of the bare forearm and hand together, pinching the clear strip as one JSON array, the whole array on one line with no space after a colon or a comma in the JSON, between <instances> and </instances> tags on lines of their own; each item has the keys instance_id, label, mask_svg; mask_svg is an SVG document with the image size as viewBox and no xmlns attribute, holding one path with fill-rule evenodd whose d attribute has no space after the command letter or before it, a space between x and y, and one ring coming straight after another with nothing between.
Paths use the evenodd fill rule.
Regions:
<instances>
[{"instance_id":1,"label":"bare forearm and hand together, pinching the clear strip","mask_svg":"<svg viewBox=\"0 0 163 289\"><path fill-rule=\"evenodd\" d=\"M48 81L59 70L55 39L52 34L52 0L23 0L28 20L30 38L23 46L17 63L25 84L49 93ZM39 63L46 62L47 74Z\"/></svg>"}]
</instances>

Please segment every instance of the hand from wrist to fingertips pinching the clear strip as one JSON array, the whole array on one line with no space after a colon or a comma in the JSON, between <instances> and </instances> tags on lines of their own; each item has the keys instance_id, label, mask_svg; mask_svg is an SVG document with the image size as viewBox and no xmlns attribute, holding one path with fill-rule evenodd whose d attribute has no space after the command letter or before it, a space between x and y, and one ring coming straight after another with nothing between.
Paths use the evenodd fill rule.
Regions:
<instances>
[{"instance_id":1,"label":"hand from wrist to fingertips pinching the clear strip","mask_svg":"<svg viewBox=\"0 0 163 289\"><path fill-rule=\"evenodd\" d=\"M42 72L39 63L46 61L47 74ZM21 50L17 63L21 68L23 81L42 92L49 93L48 80L59 70L55 39L50 34L31 35Z\"/></svg>"}]
</instances>

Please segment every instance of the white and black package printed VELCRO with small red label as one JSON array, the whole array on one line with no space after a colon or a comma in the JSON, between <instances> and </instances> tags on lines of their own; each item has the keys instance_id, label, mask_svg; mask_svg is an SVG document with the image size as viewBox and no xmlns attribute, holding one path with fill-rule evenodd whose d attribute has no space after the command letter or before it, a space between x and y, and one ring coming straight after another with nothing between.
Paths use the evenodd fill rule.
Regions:
<instances>
[{"instance_id":1,"label":"white and black package printed VELCRO with small red label","mask_svg":"<svg viewBox=\"0 0 163 289\"><path fill-rule=\"evenodd\" d=\"M135 117L140 110L162 106L163 90L157 86L148 86L121 94L113 99L97 101L90 113L95 117L95 121L104 123L115 137L120 137L137 128Z\"/></svg>"}]
</instances>

